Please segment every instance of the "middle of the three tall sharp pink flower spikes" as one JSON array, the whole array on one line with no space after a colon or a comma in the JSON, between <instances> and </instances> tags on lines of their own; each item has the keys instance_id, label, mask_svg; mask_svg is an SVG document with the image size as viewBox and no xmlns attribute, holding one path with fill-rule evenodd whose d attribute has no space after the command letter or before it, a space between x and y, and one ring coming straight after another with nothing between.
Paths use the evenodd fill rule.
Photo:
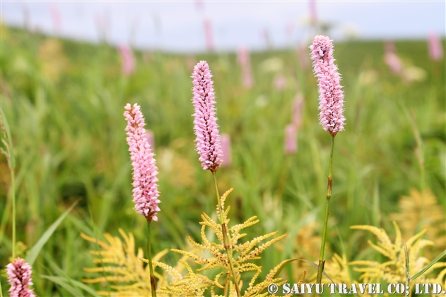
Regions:
<instances>
[{"instance_id":1,"label":"middle of the three tall sharp pink flower spikes","mask_svg":"<svg viewBox=\"0 0 446 297\"><path fill-rule=\"evenodd\" d=\"M194 131L196 135L196 151L199 153L201 167L215 172L223 162L223 151L218 134L215 108L215 95L212 87L212 74L206 61L196 64L192 78L194 88Z\"/></svg>"}]
</instances>

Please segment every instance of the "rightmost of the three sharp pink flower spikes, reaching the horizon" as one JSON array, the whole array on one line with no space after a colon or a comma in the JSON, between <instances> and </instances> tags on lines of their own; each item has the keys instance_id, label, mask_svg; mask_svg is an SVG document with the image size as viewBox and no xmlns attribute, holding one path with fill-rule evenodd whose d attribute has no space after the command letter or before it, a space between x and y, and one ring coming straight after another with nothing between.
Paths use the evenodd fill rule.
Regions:
<instances>
[{"instance_id":1,"label":"rightmost of the three sharp pink flower spikes, reaching the horizon","mask_svg":"<svg viewBox=\"0 0 446 297\"><path fill-rule=\"evenodd\" d=\"M317 35L310 45L313 68L319 81L319 121L331 137L344 131L344 93L341 75L334 64L333 44L327 36Z\"/></svg>"}]
</instances>

